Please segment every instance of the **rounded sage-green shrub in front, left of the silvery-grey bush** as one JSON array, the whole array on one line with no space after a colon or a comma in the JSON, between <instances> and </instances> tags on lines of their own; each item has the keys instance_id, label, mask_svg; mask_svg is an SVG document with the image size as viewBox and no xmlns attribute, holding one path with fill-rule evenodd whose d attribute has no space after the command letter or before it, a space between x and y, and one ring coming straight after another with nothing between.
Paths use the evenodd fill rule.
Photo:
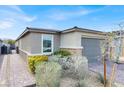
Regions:
<instances>
[{"instance_id":1,"label":"rounded sage-green shrub in front, left of the silvery-grey bush","mask_svg":"<svg viewBox=\"0 0 124 93\"><path fill-rule=\"evenodd\" d=\"M36 65L36 85L57 87L60 84L61 66L57 62L42 62Z\"/></svg>"}]
</instances>

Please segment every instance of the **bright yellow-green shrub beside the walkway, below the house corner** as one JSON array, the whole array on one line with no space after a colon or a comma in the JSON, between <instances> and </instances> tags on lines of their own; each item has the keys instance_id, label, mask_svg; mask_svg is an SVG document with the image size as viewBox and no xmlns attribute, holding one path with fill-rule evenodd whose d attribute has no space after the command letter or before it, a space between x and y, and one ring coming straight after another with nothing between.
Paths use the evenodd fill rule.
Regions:
<instances>
[{"instance_id":1,"label":"bright yellow-green shrub beside the walkway, below the house corner","mask_svg":"<svg viewBox=\"0 0 124 93\"><path fill-rule=\"evenodd\" d=\"M47 61L48 57L47 56L29 56L28 57L28 64L29 68L32 73L35 72L35 64L42 62L42 61Z\"/></svg>"}]
</instances>

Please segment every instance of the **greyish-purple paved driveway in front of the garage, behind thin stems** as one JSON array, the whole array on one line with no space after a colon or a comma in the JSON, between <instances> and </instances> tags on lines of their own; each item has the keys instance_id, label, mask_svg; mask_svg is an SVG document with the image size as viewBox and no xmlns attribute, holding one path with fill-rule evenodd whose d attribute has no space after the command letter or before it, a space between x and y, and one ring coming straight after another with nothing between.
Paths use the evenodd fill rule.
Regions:
<instances>
[{"instance_id":1,"label":"greyish-purple paved driveway in front of the garage, behind thin stems","mask_svg":"<svg viewBox=\"0 0 124 93\"><path fill-rule=\"evenodd\" d=\"M107 62L107 77L110 78L112 71L112 62ZM99 72L103 75L103 64L101 62L90 62L89 69L95 72ZM118 83L124 84L124 64L118 64L116 69L115 80Z\"/></svg>"}]
</instances>

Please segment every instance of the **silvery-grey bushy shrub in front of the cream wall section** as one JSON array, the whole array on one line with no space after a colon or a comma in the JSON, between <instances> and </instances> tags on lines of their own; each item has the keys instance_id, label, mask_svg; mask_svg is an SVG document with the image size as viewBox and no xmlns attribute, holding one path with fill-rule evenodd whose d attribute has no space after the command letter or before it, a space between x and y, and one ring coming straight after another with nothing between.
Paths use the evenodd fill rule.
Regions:
<instances>
[{"instance_id":1,"label":"silvery-grey bushy shrub in front of the cream wall section","mask_svg":"<svg viewBox=\"0 0 124 93\"><path fill-rule=\"evenodd\" d=\"M70 56L60 58L59 64L63 68L63 74L72 78L83 79L88 73L88 60L83 56Z\"/></svg>"}]
</instances>

